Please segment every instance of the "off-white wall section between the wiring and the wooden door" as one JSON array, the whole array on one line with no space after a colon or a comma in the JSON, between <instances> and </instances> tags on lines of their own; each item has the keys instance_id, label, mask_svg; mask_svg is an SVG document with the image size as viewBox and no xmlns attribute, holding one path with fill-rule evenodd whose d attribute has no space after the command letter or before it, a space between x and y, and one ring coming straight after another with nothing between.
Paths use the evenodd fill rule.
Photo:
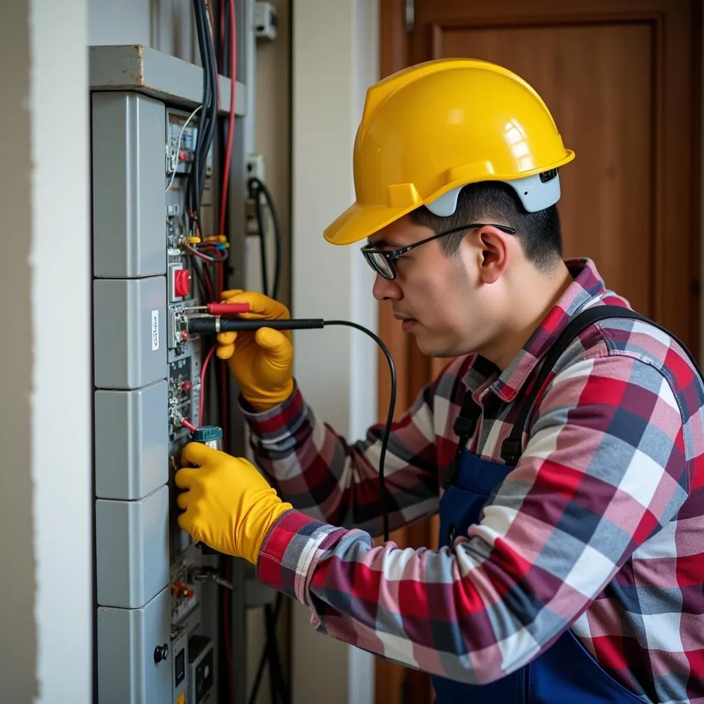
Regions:
<instances>
[{"instance_id":1,"label":"off-white wall section between the wiring and the wooden door","mask_svg":"<svg viewBox=\"0 0 704 704\"><path fill-rule=\"evenodd\" d=\"M352 147L369 84L378 77L376 0L293 3L293 313L376 329L372 272L357 246L322 231L354 200ZM349 439L376 420L377 348L363 333L326 328L294 334L295 373L316 412ZM371 655L316 634L294 610L294 701L374 701Z\"/></svg>"}]
</instances>

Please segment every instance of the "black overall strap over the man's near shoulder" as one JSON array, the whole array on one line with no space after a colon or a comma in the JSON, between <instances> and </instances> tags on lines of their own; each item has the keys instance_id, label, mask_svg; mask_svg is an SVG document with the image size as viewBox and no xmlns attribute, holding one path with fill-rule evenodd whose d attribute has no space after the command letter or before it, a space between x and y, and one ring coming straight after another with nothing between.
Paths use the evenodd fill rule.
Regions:
<instances>
[{"instance_id":1,"label":"black overall strap over the man's near shoulder","mask_svg":"<svg viewBox=\"0 0 704 704\"><path fill-rule=\"evenodd\" d=\"M567 347L572 344L572 341L574 341L574 339L576 339L579 334L584 332L584 330L593 325L595 322L598 322L599 320L605 320L607 318L630 318L634 320L642 320L643 322L647 322L649 325L653 325L654 327L657 327L658 329L662 330L662 332L665 332L665 334L667 334L671 339L677 342L679 346L681 346L681 348L686 352L687 356L689 357L689 360L691 361L692 365L696 368L697 372L701 376L699 365L693 358L691 352L684 346L684 344L682 344L681 341L672 334L672 332L665 329L661 325L658 325L658 323L653 322L652 320L650 320L650 318L646 318L645 315L641 315L641 313L636 313L635 310L630 310L629 308L622 308L621 306L594 306L593 308L587 308L586 310L583 310L582 313L575 315L574 318L572 318L572 320L567 323L565 329L562 330L562 332L558 336L558 339L553 342L551 348L549 349L545 361L540 367L540 371L538 372L536 381L533 384L530 393L527 395L527 397L522 403L520 414L518 415L518 418L515 424L513 425L513 428L511 429L510 435L503 441L503 444L501 445L501 459L507 465L515 466L518 463L518 460L520 459L523 445L523 430L528 420L528 416L534 408L536 398L538 397L538 394L543 388L543 384L545 384L548 375L553 370L553 367L555 367L555 364L558 363L558 360L565 352Z\"/></svg>"}]
</instances>

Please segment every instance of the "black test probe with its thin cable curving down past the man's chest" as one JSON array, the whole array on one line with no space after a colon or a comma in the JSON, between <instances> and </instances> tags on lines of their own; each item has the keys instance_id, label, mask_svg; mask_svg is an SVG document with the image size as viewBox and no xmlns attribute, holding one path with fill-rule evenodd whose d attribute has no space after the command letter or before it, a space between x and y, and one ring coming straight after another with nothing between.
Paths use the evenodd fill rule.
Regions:
<instances>
[{"instance_id":1,"label":"black test probe with its thin cable curving down past the man's chest","mask_svg":"<svg viewBox=\"0 0 704 704\"><path fill-rule=\"evenodd\" d=\"M389 541L389 513L386 505L386 482L384 479L384 461L386 448L389 445L391 426L394 423L394 409L396 408L396 367L394 358L389 348L370 329L350 320L323 320L322 318L291 318L289 320L244 320L242 318L219 318L218 316L199 315L188 320L188 331L196 334L213 334L217 332L252 332L261 327L270 327L275 330L300 330L327 327L329 325L344 325L353 327L371 337L381 348L386 361L389 363L391 374L391 394L389 398L389 411L386 414L386 424L382 435L382 449L379 454L379 494L382 501L382 519L384 525L384 542Z\"/></svg>"}]
</instances>

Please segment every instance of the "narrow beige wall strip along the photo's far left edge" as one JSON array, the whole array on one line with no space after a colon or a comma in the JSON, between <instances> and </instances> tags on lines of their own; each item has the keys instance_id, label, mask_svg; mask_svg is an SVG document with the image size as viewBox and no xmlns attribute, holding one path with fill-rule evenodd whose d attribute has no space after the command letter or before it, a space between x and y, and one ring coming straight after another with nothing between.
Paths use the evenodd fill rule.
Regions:
<instances>
[{"instance_id":1,"label":"narrow beige wall strip along the photo's far left edge","mask_svg":"<svg viewBox=\"0 0 704 704\"><path fill-rule=\"evenodd\" d=\"M37 692L34 671L37 661L37 624L34 622L36 558L32 544L32 477L30 388L32 386L32 304L30 300L30 246L32 172L30 121L25 103L30 99L30 39L28 3L16 2L0 10L0 89L15 96L3 108L4 130L0 146L13 178L0 189L4 218L4 253L1 258L0 294L13 301L6 325L13 331L3 346L4 365L12 373L2 393L0 442L4 448L0 491L0 530L13 535L0 542L3 570L0 586L12 608L0 609L0 634L15 634L12 648L3 648L0 676L9 683L6 696L31 701ZM7 368L7 367L6 367Z\"/></svg>"}]
</instances>

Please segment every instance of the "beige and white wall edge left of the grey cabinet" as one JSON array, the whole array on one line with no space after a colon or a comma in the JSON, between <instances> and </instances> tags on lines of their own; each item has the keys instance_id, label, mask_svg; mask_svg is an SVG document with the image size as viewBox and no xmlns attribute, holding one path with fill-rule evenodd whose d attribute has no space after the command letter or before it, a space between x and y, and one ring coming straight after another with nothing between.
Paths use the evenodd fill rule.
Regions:
<instances>
[{"instance_id":1,"label":"beige and white wall edge left of the grey cabinet","mask_svg":"<svg viewBox=\"0 0 704 704\"><path fill-rule=\"evenodd\" d=\"M0 7L7 702L92 700L86 21L84 0Z\"/></svg>"}]
</instances>

